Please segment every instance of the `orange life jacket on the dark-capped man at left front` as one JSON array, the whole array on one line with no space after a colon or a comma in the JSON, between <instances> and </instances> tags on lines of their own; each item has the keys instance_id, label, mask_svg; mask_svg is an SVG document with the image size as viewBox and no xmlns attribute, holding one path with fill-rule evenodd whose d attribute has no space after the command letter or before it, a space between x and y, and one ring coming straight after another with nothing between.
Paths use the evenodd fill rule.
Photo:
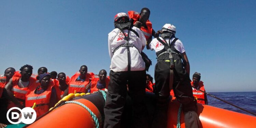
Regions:
<instances>
[{"instance_id":1,"label":"orange life jacket on the dark-capped man at left front","mask_svg":"<svg viewBox=\"0 0 256 128\"><path fill-rule=\"evenodd\" d=\"M34 103L36 103L34 110L37 113L37 117L48 112L52 87L54 87L53 81L50 82L49 87L42 94L35 94L34 89L33 91L30 91L30 93L26 96L26 107L32 107Z\"/></svg>"}]
</instances>

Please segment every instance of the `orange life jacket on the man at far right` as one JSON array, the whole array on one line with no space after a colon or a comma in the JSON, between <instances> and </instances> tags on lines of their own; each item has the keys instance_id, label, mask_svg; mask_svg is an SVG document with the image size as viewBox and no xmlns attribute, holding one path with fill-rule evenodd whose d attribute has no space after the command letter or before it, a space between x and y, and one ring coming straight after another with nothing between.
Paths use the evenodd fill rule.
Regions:
<instances>
[{"instance_id":1,"label":"orange life jacket on the man at far right","mask_svg":"<svg viewBox=\"0 0 256 128\"><path fill-rule=\"evenodd\" d=\"M191 85L193 85L193 81L191 81ZM199 89L205 92L204 85L202 81L199 81L198 83ZM205 97L204 93L202 91L197 90L196 88L192 87L193 95L197 99L198 103L205 104Z\"/></svg>"}]
</instances>

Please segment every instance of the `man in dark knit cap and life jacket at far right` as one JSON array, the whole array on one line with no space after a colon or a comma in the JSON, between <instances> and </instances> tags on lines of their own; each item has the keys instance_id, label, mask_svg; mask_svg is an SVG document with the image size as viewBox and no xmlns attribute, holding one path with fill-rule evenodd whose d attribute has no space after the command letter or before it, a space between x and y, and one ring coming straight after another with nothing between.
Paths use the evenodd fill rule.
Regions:
<instances>
[{"instance_id":1,"label":"man in dark knit cap and life jacket at far right","mask_svg":"<svg viewBox=\"0 0 256 128\"><path fill-rule=\"evenodd\" d=\"M200 79L201 79L201 74L198 72L195 72L193 74L193 79L191 81L193 95L197 99L197 103L208 105L208 100L205 93L204 85L203 85L203 82L200 81Z\"/></svg>"}]
</instances>

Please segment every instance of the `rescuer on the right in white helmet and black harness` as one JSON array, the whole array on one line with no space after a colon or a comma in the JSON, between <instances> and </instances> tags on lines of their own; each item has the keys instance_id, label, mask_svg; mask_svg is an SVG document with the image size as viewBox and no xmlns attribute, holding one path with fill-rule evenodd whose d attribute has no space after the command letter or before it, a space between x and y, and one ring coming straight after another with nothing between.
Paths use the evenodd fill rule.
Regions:
<instances>
[{"instance_id":1,"label":"rescuer on the right in white helmet and black harness","mask_svg":"<svg viewBox=\"0 0 256 128\"><path fill-rule=\"evenodd\" d=\"M186 128L199 127L197 102L193 96L189 71L190 66L182 42L175 37L176 27L165 24L160 37L150 43L155 50L157 64L155 66L155 88L157 96L156 114L153 127L167 126L167 110L170 90L173 89L176 99L182 104Z\"/></svg>"}]
</instances>

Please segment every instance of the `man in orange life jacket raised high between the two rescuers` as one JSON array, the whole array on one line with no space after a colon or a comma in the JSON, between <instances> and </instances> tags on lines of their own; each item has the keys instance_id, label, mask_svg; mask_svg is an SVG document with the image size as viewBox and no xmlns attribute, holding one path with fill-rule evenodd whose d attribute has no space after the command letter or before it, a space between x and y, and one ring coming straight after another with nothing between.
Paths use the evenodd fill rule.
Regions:
<instances>
[{"instance_id":1,"label":"man in orange life jacket raised high between the two rescuers","mask_svg":"<svg viewBox=\"0 0 256 128\"><path fill-rule=\"evenodd\" d=\"M134 27L139 28L147 41L147 49L150 49L149 44L152 41L152 37L155 37L155 31L152 28L152 23L149 21L150 10L148 8L141 9L141 12L128 11L130 22ZM156 38L156 37L155 37Z\"/></svg>"}]
</instances>

